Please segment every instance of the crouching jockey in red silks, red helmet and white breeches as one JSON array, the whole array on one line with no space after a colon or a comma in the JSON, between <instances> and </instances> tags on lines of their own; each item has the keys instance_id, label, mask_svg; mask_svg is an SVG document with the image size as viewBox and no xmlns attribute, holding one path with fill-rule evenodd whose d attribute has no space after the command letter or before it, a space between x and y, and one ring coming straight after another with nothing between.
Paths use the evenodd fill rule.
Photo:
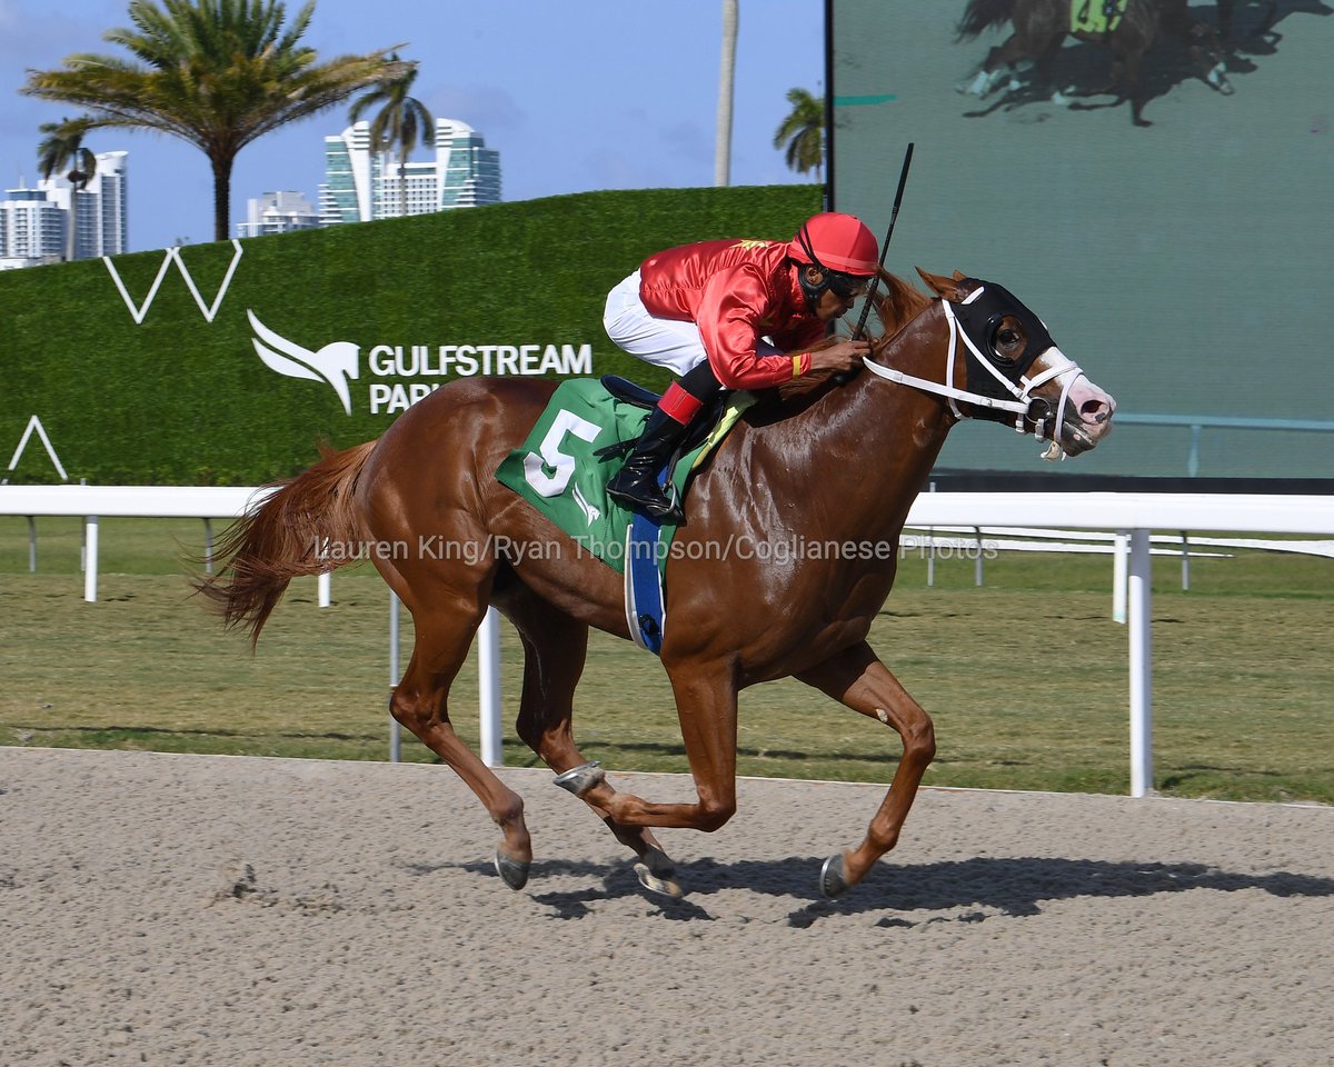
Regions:
<instances>
[{"instance_id":1,"label":"crouching jockey in red silks, red helmet and white breeches","mask_svg":"<svg viewBox=\"0 0 1334 1067\"><path fill-rule=\"evenodd\" d=\"M866 341L810 347L866 293L876 253L859 219L824 212L790 241L700 241L646 259L607 296L603 324L618 345L679 380L650 412L607 495L659 521L682 521L658 473L719 389L859 367Z\"/></svg>"}]
</instances>

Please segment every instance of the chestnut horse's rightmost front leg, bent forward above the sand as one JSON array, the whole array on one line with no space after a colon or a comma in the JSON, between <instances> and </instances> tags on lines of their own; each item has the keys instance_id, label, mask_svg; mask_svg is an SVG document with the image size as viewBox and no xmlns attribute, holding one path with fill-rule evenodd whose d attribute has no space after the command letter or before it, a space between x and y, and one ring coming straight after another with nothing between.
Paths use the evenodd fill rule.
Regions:
<instances>
[{"instance_id":1,"label":"chestnut horse's rightmost front leg, bent forward above the sand","mask_svg":"<svg viewBox=\"0 0 1334 1067\"><path fill-rule=\"evenodd\" d=\"M918 786L935 758L935 728L922 706L914 700L883 663L862 642L803 671L796 678L814 686L854 711L894 727L903 739L903 756L894 772L890 791L871 819L866 838L856 848L831 856L820 871L820 891L838 896L866 878L875 862L899 842Z\"/></svg>"}]
</instances>

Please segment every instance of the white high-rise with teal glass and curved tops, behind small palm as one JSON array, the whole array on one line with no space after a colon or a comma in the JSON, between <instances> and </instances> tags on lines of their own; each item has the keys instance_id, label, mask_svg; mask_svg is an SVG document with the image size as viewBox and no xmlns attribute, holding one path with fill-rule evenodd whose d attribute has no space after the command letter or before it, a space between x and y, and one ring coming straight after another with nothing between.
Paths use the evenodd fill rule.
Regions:
<instances>
[{"instance_id":1,"label":"white high-rise with teal glass and curved tops, behind small palm","mask_svg":"<svg viewBox=\"0 0 1334 1067\"><path fill-rule=\"evenodd\" d=\"M371 124L324 139L325 183L320 221L364 223L402 215L495 204L500 153L467 123L436 119L435 159L403 165L392 152L371 152Z\"/></svg>"}]
</instances>

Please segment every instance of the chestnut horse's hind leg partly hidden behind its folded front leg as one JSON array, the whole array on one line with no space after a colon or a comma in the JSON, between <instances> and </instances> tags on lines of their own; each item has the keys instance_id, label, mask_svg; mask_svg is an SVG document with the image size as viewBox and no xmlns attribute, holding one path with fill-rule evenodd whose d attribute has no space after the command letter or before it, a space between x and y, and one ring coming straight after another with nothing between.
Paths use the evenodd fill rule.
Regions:
<instances>
[{"instance_id":1,"label":"chestnut horse's hind leg partly hidden behind its folded front leg","mask_svg":"<svg viewBox=\"0 0 1334 1067\"><path fill-rule=\"evenodd\" d=\"M592 767L574 739L574 694L588 655L588 626L514 583L495 596L496 607L514 623L523 643L523 692L519 698L518 732L558 775L579 778L579 768ZM571 774L572 772L572 774ZM607 786L607 790L611 790ZM606 807L583 790L584 802L607 824L616 840L639 856L636 874L651 890L680 895L675 868L658 839L646 827L622 826Z\"/></svg>"}]
</instances>

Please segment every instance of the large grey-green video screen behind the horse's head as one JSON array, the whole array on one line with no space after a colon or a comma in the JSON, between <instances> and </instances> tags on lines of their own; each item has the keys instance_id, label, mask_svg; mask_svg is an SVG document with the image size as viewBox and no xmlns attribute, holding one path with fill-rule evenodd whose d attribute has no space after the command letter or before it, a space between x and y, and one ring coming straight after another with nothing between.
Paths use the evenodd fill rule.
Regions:
<instances>
[{"instance_id":1,"label":"large grey-green video screen behind the horse's head","mask_svg":"<svg viewBox=\"0 0 1334 1067\"><path fill-rule=\"evenodd\" d=\"M1115 432L1057 472L1334 477L1334 8L827 15L831 207L883 239L912 143L886 267L1000 283L1117 397ZM1081 16L1110 29L1071 36ZM1034 472L1038 451L966 423L936 469Z\"/></svg>"}]
</instances>

